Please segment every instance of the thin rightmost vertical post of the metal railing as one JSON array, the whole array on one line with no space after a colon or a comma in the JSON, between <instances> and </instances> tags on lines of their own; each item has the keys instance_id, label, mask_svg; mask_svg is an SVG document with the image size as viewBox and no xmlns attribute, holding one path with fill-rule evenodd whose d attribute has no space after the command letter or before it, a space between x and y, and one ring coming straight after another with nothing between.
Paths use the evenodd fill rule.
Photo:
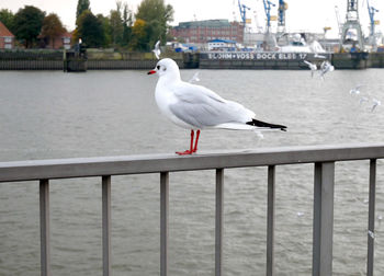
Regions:
<instances>
[{"instance_id":1,"label":"thin rightmost vertical post of the metal railing","mask_svg":"<svg viewBox=\"0 0 384 276\"><path fill-rule=\"evenodd\" d=\"M374 263L374 222L375 222L375 196L376 196L376 159L370 161L370 198L368 218L368 256L366 276L373 276Z\"/></svg>"}]
</instances>

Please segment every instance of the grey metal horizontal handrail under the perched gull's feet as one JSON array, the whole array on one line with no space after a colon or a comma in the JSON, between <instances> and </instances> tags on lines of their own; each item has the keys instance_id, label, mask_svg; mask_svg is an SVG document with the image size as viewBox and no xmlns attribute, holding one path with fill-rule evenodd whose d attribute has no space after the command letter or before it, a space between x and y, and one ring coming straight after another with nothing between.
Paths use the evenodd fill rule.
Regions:
<instances>
[{"instance_id":1,"label":"grey metal horizontal handrail under the perched gull's feet","mask_svg":"<svg viewBox=\"0 0 384 276\"><path fill-rule=\"evenodd\" d=\"M301 146L204 152L0 162L0 182L214 170L384 158L383 143Z\"/></svg>"}]
</instances>

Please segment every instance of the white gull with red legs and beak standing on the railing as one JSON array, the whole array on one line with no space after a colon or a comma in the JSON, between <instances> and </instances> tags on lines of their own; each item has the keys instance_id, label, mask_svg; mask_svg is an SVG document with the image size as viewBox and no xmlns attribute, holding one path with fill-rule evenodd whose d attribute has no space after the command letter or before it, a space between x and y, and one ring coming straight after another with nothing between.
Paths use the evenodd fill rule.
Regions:
<instances>
[{"instance_id":1,"label":"white gull with red legs and beak standing on the railing","mask_svg":"<svg viewBox=\"0 0 384 276\"><path fill-rule=\"evenodd\" d=\"M176 125L191 129L190 147L185 151L177 151L179 156L197 151L200 130L205 128L286 130L286 126L256 119L252 111L223 99L207 88L182 81L178 65L170 58L158 61L148 74L159 77L155 100L160 112Z\"/></svg>"}]
</instances>

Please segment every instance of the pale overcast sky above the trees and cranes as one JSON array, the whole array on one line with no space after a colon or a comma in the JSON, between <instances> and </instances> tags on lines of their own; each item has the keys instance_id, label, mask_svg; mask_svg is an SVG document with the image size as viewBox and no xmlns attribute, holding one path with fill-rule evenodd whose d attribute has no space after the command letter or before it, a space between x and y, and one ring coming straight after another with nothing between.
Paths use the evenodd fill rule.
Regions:
<instances>
[{"instance_id":1,"label":"pale overcast sky above the trees and cranes","mask_svg":"<svg viewBox=\"0 0 384 276\"><path fill-rule=\"evenodd\" d=\"M142 0L126 0L128 7L134 12ZM230 21L236 18L239 20L238 0L165 0L174 9L176 25L179 22L207 19L228 19ZM278 0L271 0L276 3ZM289 4L286 11L286 27L291 32L310 31L323 32L324 26L331 26L332 33L336 34L337 20L335 5L339 7L341 21L346 18L347 0L285 0ZM369 15L366 9L368 0L360 0L360 18L363 24L363 32L369 33ZM47 13L55 12L59 15L63 23L69 31L75 27L75 14L78 0L0 0L0 9L10 9L16 12L25 4L35 5ZM123 0L124 2L124 0ZM241 0L244 4L251 8L247 18L252 20L256 28L256 22L264 25L266 16L262 0ZM90 0L91 11L108 15L110 10L115 9L115 0ZM371 5L380 10L376 13L376 20L381 21L379 30L384 27L384 1L370 0ZM276 14L276 8L272 9L271 14ZM256 20L257 18L257 20ZM331 33L331 34L332 34ZM334 35L331 35L334 36Z\"/></svg>"}]
</instances>

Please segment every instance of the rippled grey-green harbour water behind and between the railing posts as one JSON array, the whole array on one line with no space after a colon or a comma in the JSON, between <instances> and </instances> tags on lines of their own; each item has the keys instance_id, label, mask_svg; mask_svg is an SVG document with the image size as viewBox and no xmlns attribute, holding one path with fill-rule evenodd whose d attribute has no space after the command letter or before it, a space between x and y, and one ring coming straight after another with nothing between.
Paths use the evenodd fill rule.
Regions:
<instances>
[{"instance_id":1,"label":"rippled grey-green harbour water behind and between the railing posts","mask_svg":"<svg viewBox=\"0 0 384 276\"><path fill-rule=\"evenodd\" d=\"M195 70L182 71L189 80ZM312 79L309 71L200 70L200 84L244 103L259 119L287 133L202 131L200 151L298 145L382 142L384 107L370 112L349 90L384 100L382 70L341 71ZM189 130L160 116L157 78L145 71L0 73L0 161L125 156L184 150ZM364 275L369 162L337 163L335 275ZM383 216L379 162L376 215ZM309 275L312 164L276 173L278 275ZM213 275L213 171L170 175L170 275ZM52 181L54 275L101 275L101 180ZM114 275L158 275L159 175L112 179ZM225 171L224 269L263 275L267 169ZM384 230L376 220L375 274L384 274ZM0 275L39 273L38 183L0 184Z\"/></svg>"}]
</instances>

